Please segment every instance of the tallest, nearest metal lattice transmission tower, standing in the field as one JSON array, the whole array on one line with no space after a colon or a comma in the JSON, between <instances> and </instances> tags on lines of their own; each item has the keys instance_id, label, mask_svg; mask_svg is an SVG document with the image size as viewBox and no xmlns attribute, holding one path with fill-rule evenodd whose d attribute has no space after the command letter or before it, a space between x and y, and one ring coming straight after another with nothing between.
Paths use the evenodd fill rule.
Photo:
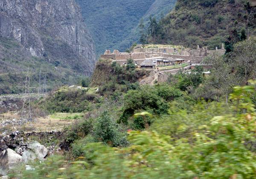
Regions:
<instances>
[{"instance_id":1,"label":"tallest, nearest metal lattice transmission tower, standing in the field","mask_svg":"<svg viewBox=\"0 0 256 179\"><path fill-rule=\"evenodd\" d=\"M31 107L30 107L30 75L29 75L29 68L26 74L26 81L20 82L25 83L25 93L24 93L24 99L23 99L23 107L22 112L20 116L20 124L23 121L32 121L32 115L31 115Z\"/></svg>"}]
</instances>

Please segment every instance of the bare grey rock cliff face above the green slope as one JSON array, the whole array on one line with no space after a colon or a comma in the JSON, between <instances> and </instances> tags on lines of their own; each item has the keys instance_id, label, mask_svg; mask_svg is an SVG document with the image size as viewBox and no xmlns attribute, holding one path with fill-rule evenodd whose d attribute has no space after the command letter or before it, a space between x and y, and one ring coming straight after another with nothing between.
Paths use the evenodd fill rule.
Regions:
<instances>
[{"instance_id":1,"label":"bare grey rock cliff face above the green slope","mask_svg":"<svg viewBox=\"0 0 256 179\"><path fill-rule=\"evenodd\" d=\"M75 0L1 0L0 37L14 38L49 63L93 71L93 40Z\"/></svg>"}]
</instances>

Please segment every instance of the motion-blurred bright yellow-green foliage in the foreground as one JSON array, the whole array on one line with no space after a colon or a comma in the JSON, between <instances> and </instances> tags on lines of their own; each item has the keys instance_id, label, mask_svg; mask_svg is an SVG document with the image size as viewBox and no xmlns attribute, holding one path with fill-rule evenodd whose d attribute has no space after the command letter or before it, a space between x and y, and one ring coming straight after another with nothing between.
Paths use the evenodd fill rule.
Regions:
<instances>
[{"instance_id":1,"label":"motion-blurred bright yellow-green foliage in the foreground","mask_svg":"<svg viewBox=\"0 0 256 179\"><path fill-rule=\"evenodd\" d=\"M52 156L20 178L256 178L256 113L251 86L235 87L229 103L198 102L170 110L146 131L128 130L130 145L80 140L73 161ZM176 112L173 112L176 111ZM143 113L141 113L143 115ZM145 114L148 115L148 114ZM17 170L16 170L17 171Z\"/></svg>"}]
</instances>

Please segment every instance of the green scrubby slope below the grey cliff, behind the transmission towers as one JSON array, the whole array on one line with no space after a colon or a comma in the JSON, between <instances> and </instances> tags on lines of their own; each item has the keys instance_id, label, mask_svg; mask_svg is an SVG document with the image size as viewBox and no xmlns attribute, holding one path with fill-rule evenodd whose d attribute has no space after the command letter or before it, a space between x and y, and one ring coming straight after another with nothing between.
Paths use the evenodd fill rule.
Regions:
<instances>
[{"instance_id":1,"label":"green scrubby slope below the grey cliff, behind the transmission towers","mask_svg":"<svg viewBox=\"0 0 256 179\"><path fill-rule=\"evenodd\" d=\"M26 70L30 70L31 87L38 87L39 72L46 73L47 90L62 85L76 84L82 78L68 64L49 63L44 58L33 57L15 40L0 38L0 95L23 93Z\"/></svg>"}]
</instances>

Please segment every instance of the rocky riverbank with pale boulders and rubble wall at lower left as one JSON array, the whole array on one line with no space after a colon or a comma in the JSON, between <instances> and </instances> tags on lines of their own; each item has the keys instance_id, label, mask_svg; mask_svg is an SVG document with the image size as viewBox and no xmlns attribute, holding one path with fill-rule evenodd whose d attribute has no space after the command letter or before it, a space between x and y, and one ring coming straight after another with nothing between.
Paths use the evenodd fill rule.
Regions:
<instances>
[{"instance_id":1,"label":"rocky riverbank with pale boulders and rubble wall at lower left","mask_svg":"<svg viewBox=\"0 0 256 179\"><path fill-rule=\"evenodd\" d=\"M17 165L27 164L34 160L44 160L53 153L60 152L58 141L63 140L63 132L32 132L15 131L0 136L0 176L4 176ZM44 145L40 144L37 139ZM32 170L26 166L28 170Z\"/></svg>"}]
</instances>

